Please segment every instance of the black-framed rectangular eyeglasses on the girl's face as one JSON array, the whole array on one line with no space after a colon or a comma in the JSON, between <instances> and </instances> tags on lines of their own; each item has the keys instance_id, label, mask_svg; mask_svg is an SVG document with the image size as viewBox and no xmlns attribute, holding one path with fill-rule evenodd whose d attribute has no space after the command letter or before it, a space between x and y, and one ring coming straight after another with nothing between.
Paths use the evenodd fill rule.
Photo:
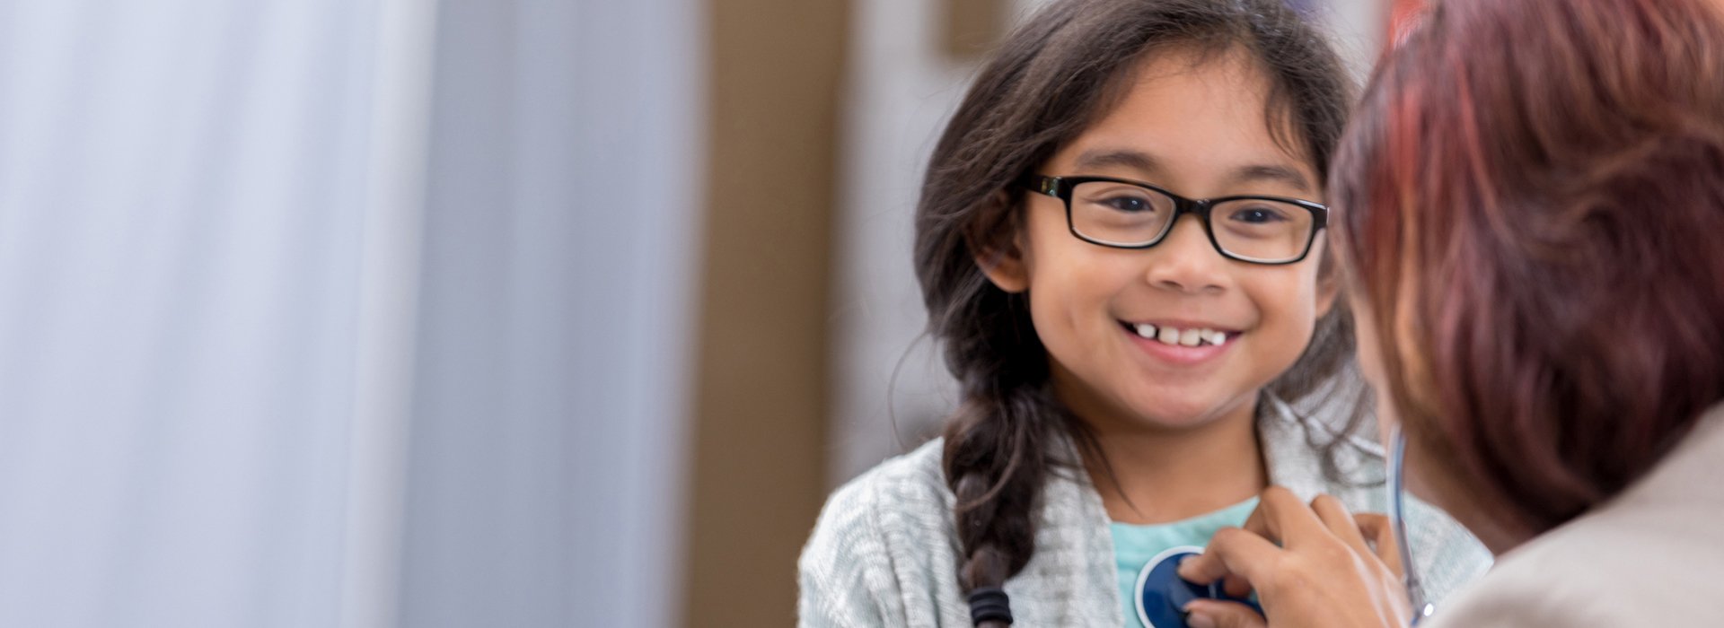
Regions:
<instances>
[{"instance_id":1,"label":"black-framed rectangular eyeglasses on the girl's face","mask_svg":"<svg viewBox=\"0 0 1724 628\"><path fill-rule=\"evenodd\" d=\"M1065 201L1072 236L1112 248L1160 244L1181 213L1193 213L1224 258L1281 265L1310 255L1317 232L1329 224L1327 206L1284 196L1191 200L1141 181L1040 174L1026 175L1022 184Z\"/></svg>"}]
</instances>

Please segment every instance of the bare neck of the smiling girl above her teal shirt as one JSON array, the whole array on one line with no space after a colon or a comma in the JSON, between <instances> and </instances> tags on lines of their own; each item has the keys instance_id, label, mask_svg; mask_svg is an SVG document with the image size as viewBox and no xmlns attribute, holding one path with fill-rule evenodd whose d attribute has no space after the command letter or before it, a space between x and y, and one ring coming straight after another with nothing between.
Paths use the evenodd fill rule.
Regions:
<instances>
[{"instance_id":1,"label":"bare neck of the smiling girl above her teal shirt","mask_svg":"<svg viewBox=\"0 0 1724 628\"><path fill-rule=\"evenodd\" d=\"M1255 497L1269 485L1255 403L1188 428L1086 423L1107 459L1084 456L1084 466L1114 521L1188 520Z\"/></svg>"}]
</instances>

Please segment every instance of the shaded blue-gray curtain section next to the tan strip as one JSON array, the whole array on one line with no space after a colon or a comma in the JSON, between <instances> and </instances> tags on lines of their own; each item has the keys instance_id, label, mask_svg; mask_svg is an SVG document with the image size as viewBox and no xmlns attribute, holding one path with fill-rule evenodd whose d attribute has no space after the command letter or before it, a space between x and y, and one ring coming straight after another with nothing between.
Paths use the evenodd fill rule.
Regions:
<instances>
[{"instance_id":1,"label":"shaded blue-gray curtain section next to the tan strip","mask_svg":"<svg viewBox=\"0 0 1724 628\"><path fill-rule=\"evenodd\" d=\"M676 618L695 9L443 5L409 626Z\"/></svg>"}]
</instances>

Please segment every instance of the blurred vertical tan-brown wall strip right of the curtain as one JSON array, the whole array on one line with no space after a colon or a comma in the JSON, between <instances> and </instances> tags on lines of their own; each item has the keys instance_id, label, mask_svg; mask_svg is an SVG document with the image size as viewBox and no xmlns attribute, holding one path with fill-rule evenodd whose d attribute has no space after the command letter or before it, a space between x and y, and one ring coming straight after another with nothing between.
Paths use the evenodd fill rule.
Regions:
<instances>
[{"instance_id":1,"label":"blurred vertical tan-brown wall strip right of the curtain","mask_svg":"<svg viewBox=\"0 0 1724 628\"><path fill-rule=\"evenodd\" d=\"M712 0L688 626L795 623L824 501L829 243L848 2Z\"/></svg>"}]
</instances>

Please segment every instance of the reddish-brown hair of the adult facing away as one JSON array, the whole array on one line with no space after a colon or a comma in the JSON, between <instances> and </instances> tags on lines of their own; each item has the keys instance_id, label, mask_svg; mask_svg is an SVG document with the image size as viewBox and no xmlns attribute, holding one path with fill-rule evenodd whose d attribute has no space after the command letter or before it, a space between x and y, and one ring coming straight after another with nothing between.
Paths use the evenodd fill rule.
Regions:
<instances>
[{"instance_id":1,"label":"reddish-brown hair of the adult facing away","mask_svg":"<svg viewBox=\"0 0 1724 628\"><path fill-rule=\"evenodd\" d=\"M1724 397L1721 24L1438 2L1348 127L1333 237L1391 403L1495 523L1593 508Z\"/></svg>"}]
</instances>

